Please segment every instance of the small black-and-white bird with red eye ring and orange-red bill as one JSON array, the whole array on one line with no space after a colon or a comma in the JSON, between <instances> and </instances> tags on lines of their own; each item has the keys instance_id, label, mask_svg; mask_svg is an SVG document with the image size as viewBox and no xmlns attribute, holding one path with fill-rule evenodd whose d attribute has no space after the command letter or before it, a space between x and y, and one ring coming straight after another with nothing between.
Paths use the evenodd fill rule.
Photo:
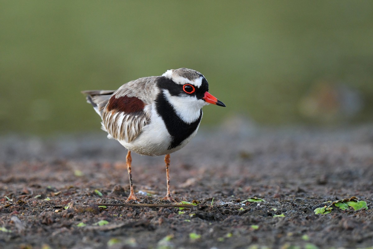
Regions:
<instances>
[{"instance_id":1,"label":"small black-and-white bird with red eye ring and orange-red bill","mask_svg":"<svg viewBox=\"0 0 373 249\"><path fill-rule=\"evenodd\" d=\"M188 68L170 69L160 76L139 78L117 90L87 90L87 102L101 117L108 138L126 149L130 194L126 202L140 199L132 184L131 151L140 155L165 155L167 193L170 192L170 154L181 149L197 134L203 106L224 103L211 95L206 78Z\"/></svg>"}]
</instances>

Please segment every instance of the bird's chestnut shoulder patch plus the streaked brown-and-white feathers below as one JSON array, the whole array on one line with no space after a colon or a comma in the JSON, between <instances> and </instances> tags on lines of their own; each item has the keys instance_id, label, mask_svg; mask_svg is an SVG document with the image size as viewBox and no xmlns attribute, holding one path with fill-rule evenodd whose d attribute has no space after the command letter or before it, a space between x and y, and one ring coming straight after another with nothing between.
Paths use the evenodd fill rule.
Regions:
<instances>
[{"instance_id":1,"label":"bird's chestnut shoulder patch plus the streaked brown-and-white feathers below","mask_svg":"<svg viewBox=\"0 0 373 249\"><path fill-rule=\"evenodd\" d=\"M102 118L103 130L119 141L131 143L149 123L145 103L137 97L110 97Z\"/></svg>"}]
</instances>

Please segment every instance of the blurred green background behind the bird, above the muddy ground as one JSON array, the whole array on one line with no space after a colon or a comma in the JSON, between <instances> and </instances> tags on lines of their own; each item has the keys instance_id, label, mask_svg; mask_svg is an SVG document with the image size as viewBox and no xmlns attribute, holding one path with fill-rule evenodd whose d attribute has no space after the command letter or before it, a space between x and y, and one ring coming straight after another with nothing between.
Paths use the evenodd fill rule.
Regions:
<instances>
[{"instance_id":1,"label":"blurred green background behind the bird, above the muddy ground","mask_svg":"<svg viewBox=\"0 0 373 249\"><path fill-rule=\"evenodd\" d=\"M0 132L98 131L81 90L204 74L265 125L373 120L373 1L1 1Z\"/></svg>"}]
</instances>

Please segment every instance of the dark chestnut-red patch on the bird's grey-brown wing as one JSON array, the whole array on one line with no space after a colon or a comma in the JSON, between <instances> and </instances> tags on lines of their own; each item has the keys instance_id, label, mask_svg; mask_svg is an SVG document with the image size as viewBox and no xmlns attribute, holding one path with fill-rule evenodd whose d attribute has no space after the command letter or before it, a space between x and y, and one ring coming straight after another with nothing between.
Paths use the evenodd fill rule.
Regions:
<instances>
[{"instance_id":1,"label":"dark chestnut-red patch on the bird's grey-brown wing","mask_svg":"<svg viewBox=\"0 0 373 249\"><path fill-rule=\"evenodd\" d=\"M113 95L109 103L107 104L107 111L119 111L119 112L143 112L144 102L137 97L128 97L127 95L116 98Z\"/></svg>"}]
</instances>

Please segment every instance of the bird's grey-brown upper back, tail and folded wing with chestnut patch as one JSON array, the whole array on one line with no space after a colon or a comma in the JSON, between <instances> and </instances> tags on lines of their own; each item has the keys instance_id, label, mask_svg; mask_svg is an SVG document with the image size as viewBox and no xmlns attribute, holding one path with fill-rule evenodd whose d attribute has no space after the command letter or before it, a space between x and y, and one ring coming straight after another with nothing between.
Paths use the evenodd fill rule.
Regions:
<instances>
[{"instance_id":1,"label":"bird's grey-brown upper back, tail and folded wing with chestnut patch","mask_svg":"<svg viewBox=\"0 0 373 249\"><path fill-rule=\"evenodd\" d=\"M109 133L108 138L131 143L149 124L151 105L158 94L157 78L130 81L116 91L82 92L101 116L101 129Z\"/></svg>"}]
</instances>

